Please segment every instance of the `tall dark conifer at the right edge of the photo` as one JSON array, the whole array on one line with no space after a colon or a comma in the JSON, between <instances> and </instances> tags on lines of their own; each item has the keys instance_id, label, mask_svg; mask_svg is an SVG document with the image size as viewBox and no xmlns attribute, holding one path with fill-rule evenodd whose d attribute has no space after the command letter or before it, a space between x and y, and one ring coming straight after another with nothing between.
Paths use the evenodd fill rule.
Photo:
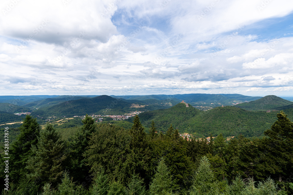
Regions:
<instances>
[{"instance_id":1,"label":"tall dark conifer at the right edge of the photo","mask_svg":"<svg viewBox=\"0 0 293 195\"><path fill-rule=\"evenodd\" d=\"M272 127L264 132L268 138L263 138L258 148L262 151L258 169L266 172L273 178L282 181L282 178L289 177L293 172L293 122L291 122L284 112L277 114L278 120Z\"/></svg>"}]
</instances>

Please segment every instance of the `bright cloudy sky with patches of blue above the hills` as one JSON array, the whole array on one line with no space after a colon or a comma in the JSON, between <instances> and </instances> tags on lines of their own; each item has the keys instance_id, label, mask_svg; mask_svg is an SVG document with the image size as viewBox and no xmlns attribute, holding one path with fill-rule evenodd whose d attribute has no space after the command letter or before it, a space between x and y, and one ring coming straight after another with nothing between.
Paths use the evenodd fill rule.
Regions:
<instances>
[{"instance_id":1,"label":"bright cloudy sky with patches of blue above the hills","mask_svg":"<svg viewBox=\"0 0 293 195\"><path fill-rule=\"evenodd\" d=\"M292 0L1 0L1 95L293 96Z\"/></svg>"}]
</instances>

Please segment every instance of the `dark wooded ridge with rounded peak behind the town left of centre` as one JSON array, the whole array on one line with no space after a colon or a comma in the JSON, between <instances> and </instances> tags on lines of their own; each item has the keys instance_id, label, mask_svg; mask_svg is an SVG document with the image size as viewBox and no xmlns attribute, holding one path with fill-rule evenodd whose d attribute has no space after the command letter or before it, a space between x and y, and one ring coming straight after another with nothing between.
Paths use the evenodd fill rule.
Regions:
<instances>
[{"instance_id":1,"label":"dark wooded ridge with rounded peak behind the town left of centre","mask_svg":"<svg viewBox=\"0 0 293 195\"><path fill-rule=\"evenodd\" d=\"M41 105L38 110L34 110L32 115L40 117L46 116L64 116L64 115L85 115L85 114L100 114L100 115L120 115L132 111L151 111L161 108L170 108L178 103L172 100L125 100L115 99L113 97L103 95L94 98L81 98L71 101L63 101L62 99L54 101L56 98L45 99L41 101L27 104L33 106L34 104ZM48 106L48 103L55 104ZM44 103L47 103L45 105ZM47 107L44 107L47 106Z\"/></svg>"}]
</instances>

